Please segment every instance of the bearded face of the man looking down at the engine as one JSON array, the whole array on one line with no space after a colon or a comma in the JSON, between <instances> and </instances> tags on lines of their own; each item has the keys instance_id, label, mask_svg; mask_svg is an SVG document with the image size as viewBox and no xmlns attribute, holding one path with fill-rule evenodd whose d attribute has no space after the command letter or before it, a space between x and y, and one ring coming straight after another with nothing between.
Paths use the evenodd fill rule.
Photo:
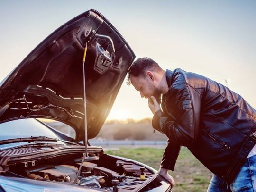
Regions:
<instances>
[{"instance_id":1,"label":"bearded face of the man looking down at the engine","mask_svg":"<svg viewBox=\"0 0 256 192\"><path fill-rule=\"evenodd\" d=\"M161 93L158 91L157 86L155 85L154 80L149 76L131 76L131 83L134 88L139 91L140 96L143 98L150 98L154 96L156 99L159 99Z\"/></svg>"}]
</instances>

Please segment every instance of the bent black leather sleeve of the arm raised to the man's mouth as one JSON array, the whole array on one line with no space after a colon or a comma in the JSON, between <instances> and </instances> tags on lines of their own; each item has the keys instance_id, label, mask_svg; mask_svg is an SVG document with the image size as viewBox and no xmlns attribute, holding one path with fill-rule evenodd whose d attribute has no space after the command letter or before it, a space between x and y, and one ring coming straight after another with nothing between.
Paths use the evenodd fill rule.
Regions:
<instances>
[{"instance_id":1,"label":"bent black leather sleeve of the arm raised to the man's mouth","mask_svg":"<svg viewBox=\"0 0 256 192\"><path fill-rule=\"evenodd\" d=\"M170 142L189 146L199 133L201 94L187 83L175 84L166 94L165 102L168 116L156 111L153 128L166 134Z\"/></svg>"}]
</instances>

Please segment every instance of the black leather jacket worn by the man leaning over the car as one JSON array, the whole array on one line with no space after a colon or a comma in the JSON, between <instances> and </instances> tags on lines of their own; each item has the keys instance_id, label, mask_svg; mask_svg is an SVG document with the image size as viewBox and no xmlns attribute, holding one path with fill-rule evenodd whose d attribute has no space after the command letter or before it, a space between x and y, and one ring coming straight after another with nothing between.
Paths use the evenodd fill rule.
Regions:
<instances>
[{"instance_id":1,"label":"black leather jacket worn by the man leaning over the car","mask_svg":"<svg viewBox=\"0 0 256 192\"><path fill-rule=\"evenodd\" d=\"M152 119L168 139L161 167L174 170L181 146L232 183L256 143L256 110L240 95L204 76L166 70L168 92Z\"/></svg>"}]
</instances>

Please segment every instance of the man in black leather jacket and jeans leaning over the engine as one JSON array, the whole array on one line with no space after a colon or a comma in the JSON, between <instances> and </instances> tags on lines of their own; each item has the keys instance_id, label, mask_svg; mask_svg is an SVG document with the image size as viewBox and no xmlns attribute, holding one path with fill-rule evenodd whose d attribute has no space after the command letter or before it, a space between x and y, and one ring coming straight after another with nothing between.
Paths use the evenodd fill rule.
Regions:
<instances>
[{"instance_id":1,"label":"man in black leather jacket and jeans leaning over the engine","mask_svg":"<svg viewBox=\"0 0 256 192\"><path fill-rule=\"evenodd\" d=\"M198 74L165 71L150 58L132 64L130 83L148 99L153 128L168 137L158 173L172 187L168 170L186 146L213 173L208 192L256 191L256 110L240 95Z\"/></svg>"}]
</instances>

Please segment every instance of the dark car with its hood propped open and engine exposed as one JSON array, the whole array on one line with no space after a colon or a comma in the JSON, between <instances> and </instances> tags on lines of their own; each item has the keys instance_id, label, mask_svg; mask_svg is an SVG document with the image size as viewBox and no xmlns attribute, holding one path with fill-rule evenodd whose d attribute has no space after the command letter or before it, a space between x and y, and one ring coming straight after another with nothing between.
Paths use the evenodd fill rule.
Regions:
<instances>
[{"instance_id":1,"label":"dark car with its hood propped open and engine exposed","mask_svg":"<svg viewBox=\"0 0 256 192\"><path fill-rule=\"evenodd\" d=\"M0 191L170 191L154 168L88 142L134 59L120 33L93 9L41 42L0 83ZM74 134L40 119L68 125Z\"/></svg>"}]
</instances>

